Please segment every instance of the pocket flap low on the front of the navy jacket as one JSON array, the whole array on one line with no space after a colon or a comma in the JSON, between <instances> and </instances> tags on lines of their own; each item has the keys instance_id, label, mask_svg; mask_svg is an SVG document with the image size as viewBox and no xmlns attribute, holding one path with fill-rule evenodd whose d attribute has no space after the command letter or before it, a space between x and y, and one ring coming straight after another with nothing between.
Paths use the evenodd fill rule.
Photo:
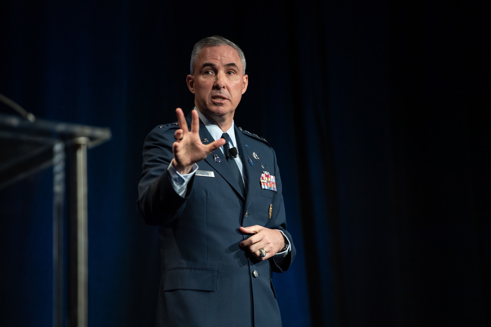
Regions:
<instances>
[{"instance_id":1,"label":"pocket flap low on the front of the navy jacket","mask_svg":"<svg viewBox=\"0 0 491 327\"><path fill-rule=\"evenodd\" d=\"M186 289L215 291L217 289L216 269L173 268L167 271L164 291Z\"/></svg>"}]
</instances>

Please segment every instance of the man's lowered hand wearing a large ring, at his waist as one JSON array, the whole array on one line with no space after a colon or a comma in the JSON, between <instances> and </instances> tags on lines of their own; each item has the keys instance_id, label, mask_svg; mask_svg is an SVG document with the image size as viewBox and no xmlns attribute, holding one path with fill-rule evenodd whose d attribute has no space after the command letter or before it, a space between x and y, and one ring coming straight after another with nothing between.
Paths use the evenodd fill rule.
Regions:
<instances>
[{"instance_id":1,"label":"man's lowered hand wearing a large ring, at his waist","mask_svg":"<svg viewBox=\"0 0 491 327\"><path fill-rule=\"evenodd\" d=\"M248 250L254 253L260 260L271 258L274 254L280 252L285 244L283 234L277 229L254 225L249 227L241 226L239 227L239 231L243 234L251 235L249 238L239 243L239 246L241 248L248 248ZM264 249L266 251L265 257L261 257L259 249Z\"/></svg>"}]
</instances>

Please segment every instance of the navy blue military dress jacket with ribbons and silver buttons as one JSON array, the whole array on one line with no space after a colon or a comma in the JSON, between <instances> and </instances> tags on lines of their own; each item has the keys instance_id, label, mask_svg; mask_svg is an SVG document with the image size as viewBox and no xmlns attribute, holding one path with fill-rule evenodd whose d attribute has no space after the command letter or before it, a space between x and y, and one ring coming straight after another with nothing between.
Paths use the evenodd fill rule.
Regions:
<instances>
[{"instance_id":1,"label":"navy blue military dress jacket with ribbons and silver buttons","mask_svg":"<svg viewBox=\"0 0 491 327\"><path fill-rule=\"evenodd\" d=\"M191 126L191 114L187 121ZM161 282L156 326L281 326L272 273L286 271L296 250L286 230L273 149L264 139L235 126L246 194L242 194L217 149L197 163L200 171L213 172L215 177L194 175L183 198L172 188L167 171L178 128L176 124L159 125L148 134L138 185L139 215L147 224L160 226ZM205 144L213 142L201 121L199 134ZM253 152L259 159L253 157ZM221 162L216 162L214 154ZM275 176L276 191L261 189L264 171ZM240 233L239 226L253 225L282 230L290 242L289 254L261 261L240 249L239 243L248 235Z\"/></svg>"}]
</instances>

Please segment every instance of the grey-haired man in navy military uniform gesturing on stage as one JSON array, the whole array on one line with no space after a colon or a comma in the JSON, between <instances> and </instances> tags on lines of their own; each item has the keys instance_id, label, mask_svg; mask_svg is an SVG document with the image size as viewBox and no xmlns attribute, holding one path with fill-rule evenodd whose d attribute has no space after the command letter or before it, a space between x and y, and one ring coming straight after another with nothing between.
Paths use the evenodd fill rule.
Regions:
<instances>
[{"instance_id":1,"label":"grey-haired man in navy military uniform gesturing on stage","mask_svg":"<svg viewBox=\"0 0 491 327\"><path fill-rule=\"evenodd\" d=\"M248 76L220 36L194 45L195 107L145 139L137 211L159 225L157 326L281 326L272 273L295 247L269 143L234 124Z\"/></svg>"}]
</instances>

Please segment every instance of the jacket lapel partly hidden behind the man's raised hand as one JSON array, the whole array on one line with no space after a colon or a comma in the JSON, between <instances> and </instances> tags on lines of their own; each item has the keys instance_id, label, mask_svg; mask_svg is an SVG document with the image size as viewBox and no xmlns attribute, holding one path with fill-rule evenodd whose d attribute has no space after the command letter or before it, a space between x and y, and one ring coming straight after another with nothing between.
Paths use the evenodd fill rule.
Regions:
<instances>
[{"instance_id":1,"label":"jacket lapel partly hidden behind the man's raised hand","mask_svg":"<svg viewBox=\"0 0 491 327\"><path fill-rule=\"evenodd\" d=\"M191 126L191 112L186 117L186 121L188 122L188 126L190 127ZM203 124L203 122L201 122L201 120L199 121L199 137L201 138L201 140L204 140L204 139L208 140L208 141L203 142L203 144L209 144L209 143L215 141L212 138L208 129L206 129L206 126ZM215 161L215 157L214 157L213 153L215 153L218 156L218 158L221 160L220 162ZM244 201L246 196L245 196L245 194L242 193L242 190L239 187L239 184L234 177L232 169L228 165L227 159L225 159L225 156L223 155L221 150L216 149L215 151L213 151L210 155L208 155L205 158L205 161L210 166L212 166L213 169L215 169L217 171L217 173L220 174L220 176L222 176L223 179L225 179L227 181L227 183L230 184L230 186L232 186L232 188L235 190L235 192L237 192L237 194L239 194L239 196L242 198L242 201Z\"/></svg>"}]
</instances>

